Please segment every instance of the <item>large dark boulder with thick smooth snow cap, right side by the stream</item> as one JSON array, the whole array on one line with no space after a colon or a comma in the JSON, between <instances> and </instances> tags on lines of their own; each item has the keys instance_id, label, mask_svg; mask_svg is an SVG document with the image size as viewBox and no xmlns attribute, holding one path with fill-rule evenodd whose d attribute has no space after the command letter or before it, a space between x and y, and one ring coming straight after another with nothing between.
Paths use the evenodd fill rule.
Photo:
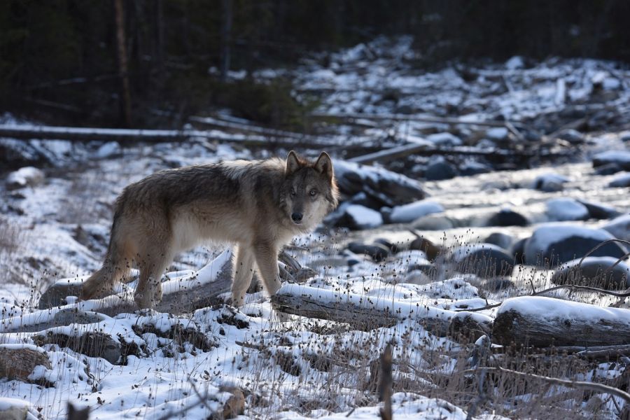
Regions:
<instances>
[{"instance_id":1,"label":"large dark boulder with thick smooth snow cap, right side by the stream","mask_svg":"<svg viewBox=\"0 0 630 420\"><path fill-rule=\"evenodd\" d=\"M614 239L603 229L589 229L578 225L547 223L534 230L525 243L528 265L555 267L575 258L582 258L592 248L608 239ZM594 257L620 258L626 253L620 244L608 243L591 253Z\"/></svg>"}]
</instances>

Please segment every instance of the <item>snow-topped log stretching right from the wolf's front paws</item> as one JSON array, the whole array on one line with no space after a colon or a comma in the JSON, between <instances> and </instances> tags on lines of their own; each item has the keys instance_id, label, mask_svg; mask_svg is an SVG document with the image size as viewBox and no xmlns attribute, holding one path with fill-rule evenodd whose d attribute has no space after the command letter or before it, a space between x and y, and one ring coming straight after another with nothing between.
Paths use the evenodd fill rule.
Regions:
<instances>
[{"instance_id":1,"label":"snow-topped log stretching right from the wolf's front paws","mask_svg":"<svg viewBox=\"0 0 630 420\"><path fill-rule=\"evenodd\" d=\"M421 323L440 337L449 332L454 311L418 303L328 290L299 284L286 284L272 297L276 310L286 314L349 323L361 330L389 327L405 319Z\"/></svg>"}]
</instances>

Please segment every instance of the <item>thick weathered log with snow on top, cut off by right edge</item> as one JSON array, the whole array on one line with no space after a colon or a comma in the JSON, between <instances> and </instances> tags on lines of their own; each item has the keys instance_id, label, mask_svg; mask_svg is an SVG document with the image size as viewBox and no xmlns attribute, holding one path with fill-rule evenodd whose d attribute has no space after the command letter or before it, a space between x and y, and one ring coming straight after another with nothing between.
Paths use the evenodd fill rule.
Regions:
<instances>
[{"instance_id":1,"label":"thick weathered log with snow on top, cut off by right edge","mask_svg":"<svg viewBox=\"0 0 630 420\"><path fill-rule=\"evenodd\" d=\"M533 347L629 344L630 310L552 297L513 297L497 311L492 340Z\"/></svg>"}]
</instances>

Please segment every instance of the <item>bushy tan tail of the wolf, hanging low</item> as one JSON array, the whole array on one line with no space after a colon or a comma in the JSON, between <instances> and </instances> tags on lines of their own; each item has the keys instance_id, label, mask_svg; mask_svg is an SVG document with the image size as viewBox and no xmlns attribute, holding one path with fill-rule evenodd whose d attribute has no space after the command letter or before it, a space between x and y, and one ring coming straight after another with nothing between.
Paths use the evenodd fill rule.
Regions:
<instances>
[{"instance_id":1,"label":"bushy tan tail of the wolf, hanging low","mask_svg":"<svg viewBox=\"0 0 630 420\"><path fill-rule=\"evenodd\" d=\"M119 209L114 214L109 237L109 246L105 255L103 266L94 272L81 286L81 298L83 300L97 299L111 293L113 287L129 274L132 255L125 255L124 243L121 243Z\"/></svg>"}]
</instances>

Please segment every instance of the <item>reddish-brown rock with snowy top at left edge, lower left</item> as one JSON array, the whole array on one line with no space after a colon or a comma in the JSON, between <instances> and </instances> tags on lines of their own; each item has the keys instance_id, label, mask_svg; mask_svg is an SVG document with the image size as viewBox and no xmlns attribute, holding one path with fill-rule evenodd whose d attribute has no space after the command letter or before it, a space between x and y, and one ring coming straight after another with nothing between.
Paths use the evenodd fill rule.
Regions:
<instances>
[{"instance_id":1,"label":"reddish-brown rock with snowy top at left edge, lower left","mask_svg":"<svg viewBox=\"0 0 630 420\"><path fill-rule=\"evenodd\" d=\"M29 344L0 344L0 378L28 382L36 366L52 369L43 349Z\"/></svg>"}]
</instances>

